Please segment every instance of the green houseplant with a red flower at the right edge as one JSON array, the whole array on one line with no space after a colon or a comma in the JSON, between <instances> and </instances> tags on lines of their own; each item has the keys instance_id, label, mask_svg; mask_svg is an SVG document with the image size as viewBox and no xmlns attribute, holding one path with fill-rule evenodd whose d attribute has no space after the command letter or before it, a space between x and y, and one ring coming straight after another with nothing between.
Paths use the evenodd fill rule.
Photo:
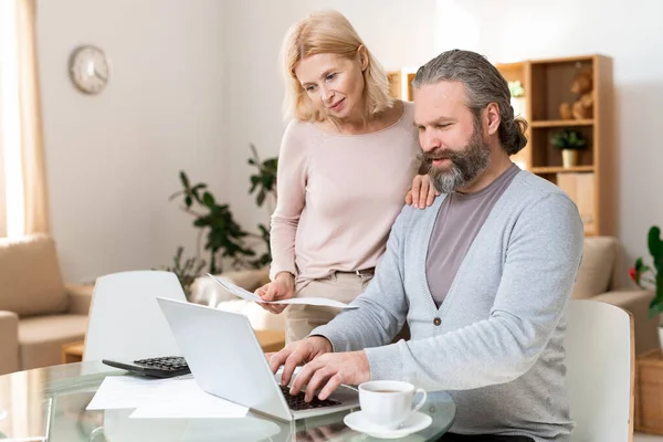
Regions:
<instances>
[{"instance_id":1,"label":"green houseplant with a red flower at the right edge","mask_svg":"<svg viewBox=\"0 0 663 442\"><path fill-rule=\"evenodd\" d=\"M653 266L644 264L642 257L638 257L635 265L629 269L629 276L640 288L655 291L656 294L649 307L649 316L654 317L663 312L663 241L657 225L650 228L646 242Z\"/></svg>"}]
</instances>

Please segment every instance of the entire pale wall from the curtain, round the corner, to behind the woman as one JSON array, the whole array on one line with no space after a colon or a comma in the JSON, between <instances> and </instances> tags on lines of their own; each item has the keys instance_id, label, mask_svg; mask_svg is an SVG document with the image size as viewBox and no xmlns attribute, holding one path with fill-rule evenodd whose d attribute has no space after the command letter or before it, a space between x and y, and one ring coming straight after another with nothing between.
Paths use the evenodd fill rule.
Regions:
<instances>
[{"instance_id":1,"label":"entire pale wall from the curtain, round the corner, to behind the woman","mask_svg":"<svg viewBox=\"0 0 663 442\"><path fill-rule=\"evenodd\" d=\"M52 232L65 280L169 264L178 244L193 250L190 219L167 202L180 169L210 183L246 230L269 221L248 194L249 144L277 155L281 41L326 8L345 13L388 69L434 55L434 0L39 2ZM82 43L112 62L95 97L67 77Z\"/></svg>"}]
</instances>

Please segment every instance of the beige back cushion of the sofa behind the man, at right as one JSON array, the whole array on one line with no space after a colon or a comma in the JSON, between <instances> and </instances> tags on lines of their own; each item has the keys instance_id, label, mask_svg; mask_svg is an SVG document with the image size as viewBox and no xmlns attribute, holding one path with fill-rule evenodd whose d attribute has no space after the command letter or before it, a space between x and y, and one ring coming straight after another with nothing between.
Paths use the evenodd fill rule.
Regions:
<instances>
[{"instance_id":1,"label":"beige back cushion of the sofa behind the man, at right","mask_svg":"<svg viewBox=\"0 0 663 442\"><path fill-rule=\"evenodd\" d=\"M612 236L586 238L583 246L573 299L587 299L608 292L617 261L618 243Z\"/></svg>"}]
</instances>

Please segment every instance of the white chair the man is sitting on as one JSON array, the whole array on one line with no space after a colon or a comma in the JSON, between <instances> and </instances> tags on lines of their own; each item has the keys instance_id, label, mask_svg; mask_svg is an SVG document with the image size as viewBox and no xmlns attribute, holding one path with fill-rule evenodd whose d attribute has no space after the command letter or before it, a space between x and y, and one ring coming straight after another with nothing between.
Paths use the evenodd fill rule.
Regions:
<instances>
[{"instance_id":1,"label":"white chair the man is sitting on","mask_svg":"<svg viewBox=\"0 0 663 442\"><path fill-rule=\"evenodd\" d=\"M571 301L566 334L572 442L633 440L634 346L629 312Z\"/></svg>"}]
</instances>

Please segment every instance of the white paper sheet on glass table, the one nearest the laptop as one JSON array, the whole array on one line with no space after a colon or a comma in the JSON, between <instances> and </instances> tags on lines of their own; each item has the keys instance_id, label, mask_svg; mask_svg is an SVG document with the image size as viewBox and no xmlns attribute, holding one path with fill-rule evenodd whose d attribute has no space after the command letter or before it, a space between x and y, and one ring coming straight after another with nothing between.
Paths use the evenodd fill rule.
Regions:
<instances>
[{"instance_id":1,"label":"white paper sheet on glass table, the one nearest the laptop","mask_svg":"<svg viewBox=\"0 0 663 442\"><path fill-rule=\"evenodd\" d=\"M160 401L143 403L129 418L243 418L249 409L209 394L194 379L165 382L157 389Z\"/></svg>"}]
</instances>

